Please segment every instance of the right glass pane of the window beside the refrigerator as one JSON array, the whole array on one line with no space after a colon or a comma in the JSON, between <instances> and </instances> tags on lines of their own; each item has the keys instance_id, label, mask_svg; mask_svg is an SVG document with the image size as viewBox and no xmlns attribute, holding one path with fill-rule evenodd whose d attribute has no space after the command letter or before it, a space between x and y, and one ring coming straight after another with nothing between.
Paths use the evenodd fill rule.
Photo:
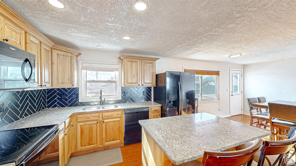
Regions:
<instances>
[{"instance_id":1,"label":"right glass pane of the window beside the refrigerator","mask_svg":"<svg viewBox=\"0 0 296 166\"><path fill-rule=\"evenodd\" d=\"M217 98L217 76L202 75L202 99Z\"/></svg>"}]
</instances>

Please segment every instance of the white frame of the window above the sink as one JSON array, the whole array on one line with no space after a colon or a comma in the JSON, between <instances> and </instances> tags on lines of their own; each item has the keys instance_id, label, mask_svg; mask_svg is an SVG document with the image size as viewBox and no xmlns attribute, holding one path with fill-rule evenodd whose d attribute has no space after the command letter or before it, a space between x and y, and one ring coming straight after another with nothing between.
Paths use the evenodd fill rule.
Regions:
<instances>
[{"instance_id":1,"label":"white frame of the window above the sink","mask_svg":"<svg viewBox=\"0 0 296 166\"><path fill-rule=\"evenodd\" d=\"M100 96L86 96L86 86L83 86L83 74L82 64L88 64L90 66L102 66L102 67L118 67L117 81L100 81L100 82L116 82L116 95L115 96L102 96L102 100L121 100L121 63L112 62L94 62L94 61L79 61L79 102L99 101Z\"/></svg>"}]
</instances>

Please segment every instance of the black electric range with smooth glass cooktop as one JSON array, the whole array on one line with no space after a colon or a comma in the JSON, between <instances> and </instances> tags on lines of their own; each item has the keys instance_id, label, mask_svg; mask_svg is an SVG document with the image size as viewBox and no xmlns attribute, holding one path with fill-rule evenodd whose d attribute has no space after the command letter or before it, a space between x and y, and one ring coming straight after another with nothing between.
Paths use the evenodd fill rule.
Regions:
<instances>
[{"instance_id":1,"label":"black electric range with smooth glass cooktop","mask_svg":"<svg viewBox=\"0 0 296 166\"><path fill-rule=\"evenodd\" d=\"M57 139L58 133L58 125L0 131L0 165L30 164Z\"/></svg>"}]
</instances>

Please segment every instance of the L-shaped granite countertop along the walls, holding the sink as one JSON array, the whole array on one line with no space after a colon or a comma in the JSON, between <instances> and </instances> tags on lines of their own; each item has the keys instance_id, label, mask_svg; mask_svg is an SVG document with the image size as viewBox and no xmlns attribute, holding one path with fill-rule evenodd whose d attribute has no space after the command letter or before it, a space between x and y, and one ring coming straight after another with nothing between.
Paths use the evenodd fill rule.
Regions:
<instances>
[{"instance_id":1,"label":"L-shaped granite countertop along the walls, holding the sink","mask_svg":"<svg viewBox=\"0 0 296 166\"><path fill-rule=\"evenodd\" d=\"M102 109L102 110L87 110L87 111L82 110L83 108L104 107L104 106L113 106L113 105L116 105L118 107L110 108L110 109ZM75 113L91 113L94 111L108 112L108 111L122 110L122 109L157 107L157 106L161 106L161 104L158 104L152 101L147 101L147 102L130 102L130 103L120 103L120 104L104 104L102 106L91 105L91 106L78 106L78 107L47 108L39 111L38 113L34 113L33 115L30 115L26 118L20 119L9 125L1 127L0 131L61 124L67 118L69 118L72 114L75 114Z\"/></svg>"}]
</instances>

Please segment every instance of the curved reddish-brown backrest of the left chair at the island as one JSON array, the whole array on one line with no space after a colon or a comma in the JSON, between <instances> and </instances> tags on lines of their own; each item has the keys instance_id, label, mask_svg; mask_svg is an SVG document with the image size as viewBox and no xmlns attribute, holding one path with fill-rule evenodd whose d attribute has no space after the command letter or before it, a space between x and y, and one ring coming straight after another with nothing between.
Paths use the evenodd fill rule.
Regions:
<instances>
[{"instance_id":1,"label":"curved reddish-brown backrest of the left chair at the island","mask_svg":"<svg viewBox=\"0 0 296 166\"><path fill-rule=\"evenodd\" d=\"M257 139L255 143L242 150L232 152L210 152L205 151L202 165L203 166L240 166L246 164L250 166L252 164L254 155L260 150L263 145L262 139Z\"/></svg>"}]
</instances>

